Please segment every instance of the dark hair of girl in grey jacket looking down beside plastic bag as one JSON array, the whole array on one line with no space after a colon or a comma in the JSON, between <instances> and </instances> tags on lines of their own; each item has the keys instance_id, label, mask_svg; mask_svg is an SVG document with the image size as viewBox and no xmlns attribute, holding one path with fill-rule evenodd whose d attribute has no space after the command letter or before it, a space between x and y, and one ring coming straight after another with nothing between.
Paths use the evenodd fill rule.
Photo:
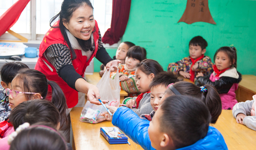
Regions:
<instances>
[{"instance_id":1,"label":"dark hair of girl in grey jacket looking down beside plastic bag","mask_svg":"<svg viewBox=\"0 0 256 150\"><path fill-rule=\"evenodd\" d=\"M153 73L155 76L160 72L164 72L162 66L156 60L152 59L145 59L138 63L136 69L140 69L146 75Z\"/></svg>"}]
</instances>

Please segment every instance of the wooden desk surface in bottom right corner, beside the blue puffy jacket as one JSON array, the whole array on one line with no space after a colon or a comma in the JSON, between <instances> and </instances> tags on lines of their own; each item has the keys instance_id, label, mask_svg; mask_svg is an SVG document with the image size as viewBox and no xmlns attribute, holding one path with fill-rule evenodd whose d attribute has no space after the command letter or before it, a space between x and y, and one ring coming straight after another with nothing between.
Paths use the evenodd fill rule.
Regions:
<instances>
[{"instance_id":1,"label":"wooden desk surface in bottom right corner, beside the blue puffy jacket","mask_svg":"<svg viewBox=\"0 0 256 150\"><path fill-rule=\"evenodd\" d=\"M229 150L255 150L256 131L236 123L232 110L222 110L216 124Z\"/></svg>"}]
</instances>

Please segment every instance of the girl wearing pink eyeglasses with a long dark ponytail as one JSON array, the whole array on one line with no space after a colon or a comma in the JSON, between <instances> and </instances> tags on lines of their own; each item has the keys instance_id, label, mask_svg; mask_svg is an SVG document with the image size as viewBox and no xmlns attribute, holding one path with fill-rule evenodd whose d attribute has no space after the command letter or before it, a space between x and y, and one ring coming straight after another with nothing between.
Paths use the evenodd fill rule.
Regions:
<instances>
[{"instance_id":1,"label":"girl wearing pink eyeglasses with a long dark ponytail","mask_svg":"<svg viewBox=\"0 0 256 150\"><path fill-rule=\"evenodd\" d=\"M48 87L51 92L48 92ZM68 128L66 116L66 98L60 86L53 81L46 79L46 76L34 69L22 69L11 82L11 89L6 89L12 110L20 103L28 100L47 99L52 102L60 112L60 130ZM12 113L12 112L11 112ZM57 118L56 118L57 119ZM8 118L0 122L0 145L4 144L3 139L14 132L12 123Z\"/></svg>"}]
</instances>

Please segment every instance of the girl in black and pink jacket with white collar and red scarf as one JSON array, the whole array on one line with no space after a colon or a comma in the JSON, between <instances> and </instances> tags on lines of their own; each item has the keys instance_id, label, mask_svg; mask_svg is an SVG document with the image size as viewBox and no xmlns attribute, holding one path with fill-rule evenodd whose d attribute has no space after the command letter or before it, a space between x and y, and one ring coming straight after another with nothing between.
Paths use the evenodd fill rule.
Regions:
<instances>
[{"instance_id":1,"label":"girl in black and pink jacket with white collar and red scarf","mask_svg":"<svg viewBox=\"0 0 256 150\"><path fill-rule=\"evenodd\" d=\"M235 90L242 80L242 75L236 70L236 48L224 46L218 49L214 55L215 65L208 76L198 73L195 84L215 86L220 94L222 109L232 110L237 103Z\"/></svg>"}]
</instances>

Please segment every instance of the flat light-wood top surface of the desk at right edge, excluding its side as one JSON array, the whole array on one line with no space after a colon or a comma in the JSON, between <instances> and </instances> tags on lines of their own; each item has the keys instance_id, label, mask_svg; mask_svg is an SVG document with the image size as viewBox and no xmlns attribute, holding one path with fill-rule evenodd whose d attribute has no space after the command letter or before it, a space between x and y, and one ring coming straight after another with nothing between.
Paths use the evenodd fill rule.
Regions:
<instances>
[{"instance_id":1,"label":"flat light-wood top surface of the desk at right edge, excluding its side","mask_svg":"<svg viewBox=\"0 0 256 150\"><path fill-rule=\"evenodd\" d=\"M242 75L242 81L239 83L239 86L256 93L256 76L249 74Z\"/></svg>"}]
</instances>

